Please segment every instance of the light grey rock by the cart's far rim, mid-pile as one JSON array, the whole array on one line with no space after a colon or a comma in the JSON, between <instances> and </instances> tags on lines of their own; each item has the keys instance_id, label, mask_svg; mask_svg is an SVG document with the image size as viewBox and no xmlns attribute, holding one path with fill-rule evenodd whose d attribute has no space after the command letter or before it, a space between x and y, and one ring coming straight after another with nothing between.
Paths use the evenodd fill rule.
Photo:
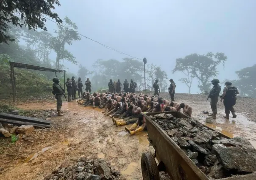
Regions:
<instances>
[{"instance_id":1,"label":"light grey rock by the cart's far rim, mid-pile","mask_svg":"<svg viewBox=\"0 0 256 180\"><path fill-rule=\"evenodd\" d=\"M194 142L196 143L208 143L210 139L215 138L218 136L219 133L216 131L211 131L211 130L203 130L199 131L198 134L194 138Z\"/></svg>"}]
</instances>

